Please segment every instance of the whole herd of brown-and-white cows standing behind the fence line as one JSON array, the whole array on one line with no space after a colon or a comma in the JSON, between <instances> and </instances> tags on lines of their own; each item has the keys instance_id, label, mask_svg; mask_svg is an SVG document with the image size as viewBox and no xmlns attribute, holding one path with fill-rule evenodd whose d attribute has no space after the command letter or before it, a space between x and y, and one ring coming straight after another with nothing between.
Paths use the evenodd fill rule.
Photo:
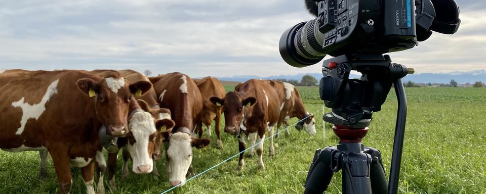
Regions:
<instances>
[{"instance_id":1,"label":"whole herd of brown-and-white cows standing behind the fence line","mask_svg":"<svg viewBox=\"0 0 486 194\"><path fill-rule=\"evenodd\" d=\"M222 113L224 131L238 138L240 152L246 150L245 136L252 145L260 142L256 152L262 170L266 132L270 156L274 155L273 128L287 128L290 118L306 118L296 128L315 134L315 120L305 110L299 91L280 81L252 79L226 93L215 78L191 79L182 73L146 77L132 70L0 70L0 89L0 149L39 151L41 177L46 176L49 152L61 193L71 189L71 165L81 169L87 193L95 193L95 167L97 193L104 193L106 169L110 186L116 188L120 150L121 177L129 174L129 159L133 172L158 176L154 164L162 158L163 145L169 182L183 185L192 169L192 148L211 142L202 138L203 125L209 137L216 120L216 145L223 146ZM237 170L244 165L242 153Z\"/></svg>"}]
</instances>

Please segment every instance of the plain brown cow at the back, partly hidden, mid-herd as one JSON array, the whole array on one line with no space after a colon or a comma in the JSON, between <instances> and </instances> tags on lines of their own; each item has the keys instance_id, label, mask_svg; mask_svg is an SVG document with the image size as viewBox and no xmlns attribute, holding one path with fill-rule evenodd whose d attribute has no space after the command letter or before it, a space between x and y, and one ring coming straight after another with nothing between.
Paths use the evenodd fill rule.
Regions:
<instances>
[{"instance_id":1,"label":"plain brown cow at the back, partly hidden, mid-herd","mask_svg":"<svg viewBox=\"0 0 486 194\"><path fill-rule=\"evenodd\" d=\"M203 135L203 124L206 125L208 128L207 135L208 137L211 136L211 123L213 120L216 121L216 126L214 127L216 136L218 137L217 146L218 148L222 148L223 142L221 141L220 135L220 125L221 125L221 113L223 112L221 107L217 107L211 103L209 100L211 96L218 96L219 98L223 99L226 91L219 82L218 79L213 77L205 77L202 79L194 79L196 82L201 95L203 96L203 111L199 113L197 116L198 120L196 123L196 129L199 133L199 138Z\"/></svg>"}]
</instances>

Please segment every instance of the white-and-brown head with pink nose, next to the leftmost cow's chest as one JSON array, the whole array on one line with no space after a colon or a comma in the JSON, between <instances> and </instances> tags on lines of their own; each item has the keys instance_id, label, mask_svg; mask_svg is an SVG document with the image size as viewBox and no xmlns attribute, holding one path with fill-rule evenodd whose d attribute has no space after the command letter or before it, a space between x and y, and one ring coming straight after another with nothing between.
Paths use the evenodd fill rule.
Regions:
<instances>
[{"instance_id":1,"label":"white-and-brown head with pink nose, next to the leftmost cow's chest","mask_svg":"<svg viewBox=\"0 0 486 194\"><path fill-rule=\"evenodd\" d=\"M148 112L137 112L129 121L130 132L126 136L127 150L133 160L132 170L137 174L152 172L152 152L159 131L174 127L171 119L154 120Z\"/></svg>"}]
</instances>

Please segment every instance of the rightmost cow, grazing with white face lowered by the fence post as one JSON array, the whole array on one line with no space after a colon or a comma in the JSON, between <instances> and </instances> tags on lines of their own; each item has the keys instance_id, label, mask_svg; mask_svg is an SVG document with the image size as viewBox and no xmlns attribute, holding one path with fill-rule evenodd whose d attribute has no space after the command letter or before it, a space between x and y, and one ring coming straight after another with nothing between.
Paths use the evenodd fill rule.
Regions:
<instances>
[{"instance_id":1,"label":"rightmost cow, grazing with white face lowered by the fence post","mask_svg":"<svg viewBox=\"0 0 486 194\"><path fill-rule=\"evenodd\" d=\"M280 116L278 117L277 122L277 134L275 137L279 136L280 127L284 124L284 128L286 129L286 134L290 135L289 132L289 120L297 117L299 120L304 119L303 121L297 123L295 128L297 130L302 130L302 128L307 131L307 133L311 135L315 135L315 119L314 115L309 114L305 110L304 103L300 98L300 93L297 88L287 82L282 81L274 81L274 80L265 80L268 84L270 84L275 91L277 92L280 100Z\"/></svg>"}]
</instances>

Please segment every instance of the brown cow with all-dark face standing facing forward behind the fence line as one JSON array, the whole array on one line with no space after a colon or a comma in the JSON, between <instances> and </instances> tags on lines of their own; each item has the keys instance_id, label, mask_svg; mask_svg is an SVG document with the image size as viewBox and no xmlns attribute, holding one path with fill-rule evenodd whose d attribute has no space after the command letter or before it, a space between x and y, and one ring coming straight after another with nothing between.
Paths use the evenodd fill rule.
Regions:
<instances>
[{"instance_id":1,"label":"brown cow with all-dark face standing facing forward behind the fence line","mask_svg":"<svg viewBox=\"0 0 486 194\"><path fill-rule=\"evenodd\" d=\"M241 154L236 170L241 171L245 166L245 152L243 151L246 149L246 143L244 135L248 136L252 144L255 144L255 139L259 142L256 148L258 167L260 170L264 170L262 154L263 141L267 130L270 136L269 155L275 155L273 127L280 114L280 103L275 89L263 80L250 79L235 87L235 91L226 93L224 99L212 96L210 100L214 105L223 107L224 132L238 136Z\"/></svg>"}]
</instances>

